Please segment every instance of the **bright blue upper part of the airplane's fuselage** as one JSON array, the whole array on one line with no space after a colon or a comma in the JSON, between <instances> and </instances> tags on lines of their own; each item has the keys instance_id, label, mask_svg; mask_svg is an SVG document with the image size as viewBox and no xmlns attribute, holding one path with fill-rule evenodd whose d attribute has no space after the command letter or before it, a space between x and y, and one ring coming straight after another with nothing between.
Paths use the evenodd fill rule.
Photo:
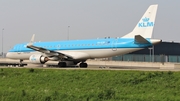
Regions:
<instances>
[{"instance_id":1,"label":"bright blue upper part of the airplane's fuselage","mask_svg":"<svg viewBox=\"0 0 180 101\"><path fill-rule=\"evenodd\" d=\"M149 39L147 39L149 41ZM17 44L9 52L33 52L26 47L28 43ZM119 49L119 48L144 48L151 47L151 43L138 44L133 38L108 38L92 40L72 40L54 42L34 42L34 46L42 47L52 51L64 50L94 50L94 49Z\"/></svg>"}]
</instances>

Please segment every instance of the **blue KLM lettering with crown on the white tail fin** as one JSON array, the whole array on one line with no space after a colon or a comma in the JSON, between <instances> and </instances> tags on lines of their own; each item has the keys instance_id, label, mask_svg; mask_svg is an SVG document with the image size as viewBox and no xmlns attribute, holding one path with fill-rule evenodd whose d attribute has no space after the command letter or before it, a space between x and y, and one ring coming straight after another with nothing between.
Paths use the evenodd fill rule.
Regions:
<instances>
[{"instance_id":1,"label":"blue KLM lettering with crown on the white tail fin","mask_svg":"<svg viewBox=\"0 0 180 101\"><path fill-rule=\"evenodd\" d=\"M150 22L149 20L149 18L143 18L142 22L138 23L138 27L153 27L154 22Z\"/></svg>"}]
</instances>

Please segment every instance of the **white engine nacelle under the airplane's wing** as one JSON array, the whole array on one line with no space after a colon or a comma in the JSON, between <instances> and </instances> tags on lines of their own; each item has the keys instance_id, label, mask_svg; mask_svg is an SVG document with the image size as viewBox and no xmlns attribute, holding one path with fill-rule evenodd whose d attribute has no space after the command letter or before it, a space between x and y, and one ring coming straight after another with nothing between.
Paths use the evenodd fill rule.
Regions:
<instances>
[{"instance_id":1,"label":"white engine nacelle under the airplane's wing","mask_svg":"<svg viewBox=\"0 0 180 101\"><path fill-rule=\"evenodd\" d=\"M44 64L44 63L47 62L49 59L48 59L48 57L44 57L43 55L34 54L34 55L31 55L31 56L29 57L29 60L30 60L30 62L32 62L32 63L41 63L41 64Z\"/></svg>"}]
</instances>

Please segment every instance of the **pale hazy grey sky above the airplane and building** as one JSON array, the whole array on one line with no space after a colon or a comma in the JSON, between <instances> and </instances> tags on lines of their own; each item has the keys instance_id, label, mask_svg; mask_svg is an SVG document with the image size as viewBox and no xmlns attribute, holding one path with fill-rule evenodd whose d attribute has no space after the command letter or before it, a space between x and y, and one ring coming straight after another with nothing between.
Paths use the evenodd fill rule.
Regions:
<instances>
[{"instance_id":1,"label":"pale hazy grey sky above the airplane and building","mask_svg":"<svg viewBox=\"0 0 180 101\"><path fill-rule=\"evenodd\" d=\"M33 34L35 41L122 37L152 4L153 38L180 42L180 0L0 0L0 53Z\"/></svg>"}]
</instances>

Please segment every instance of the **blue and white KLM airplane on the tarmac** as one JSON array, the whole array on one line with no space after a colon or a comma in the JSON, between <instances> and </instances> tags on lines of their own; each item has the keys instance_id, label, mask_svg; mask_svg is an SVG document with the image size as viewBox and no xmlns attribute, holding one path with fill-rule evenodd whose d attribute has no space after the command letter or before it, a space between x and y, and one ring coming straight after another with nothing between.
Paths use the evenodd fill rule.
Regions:
<instances>
[{"instance_id":1,"label":"blue and white KLM airplane on the tarmac","mask_svg":"<svg viewBox=\"0 0 180 101\"><path fill-rule=\"evenodd\" d=\"M70 62L87 68L88 59L123 55L152 47L161 42L160 39L152 39L157 8L157 4L150 5L132 32L120 38L34 42L33 34L29 43L15 45L6 57L20 62L29 60L32 64L58 61L59 67L66 67Z\"/></svg>"}]
</instances>

